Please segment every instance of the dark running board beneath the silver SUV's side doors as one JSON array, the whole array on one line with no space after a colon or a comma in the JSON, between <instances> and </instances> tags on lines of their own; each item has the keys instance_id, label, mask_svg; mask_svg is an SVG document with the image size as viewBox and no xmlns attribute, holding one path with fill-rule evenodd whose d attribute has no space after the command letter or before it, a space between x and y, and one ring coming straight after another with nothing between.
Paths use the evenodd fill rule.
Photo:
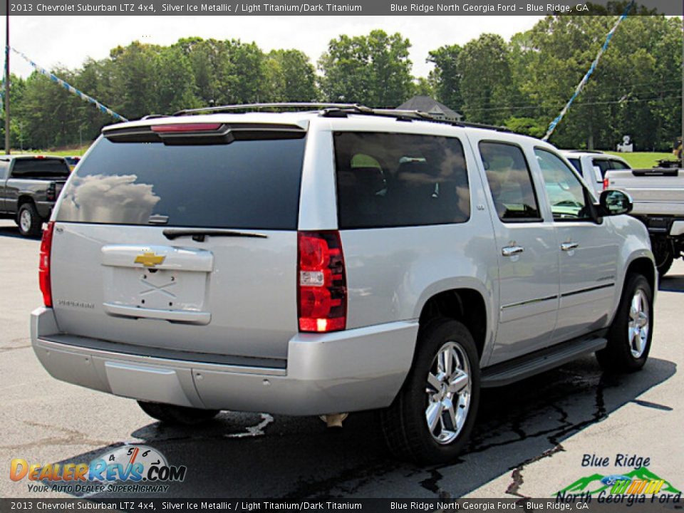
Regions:
<instances>
[{"instance_id":1,"label":"dark running board beneath the silver SUV's side doors","mask_svg":"<svg viewBox=\"0 0 684 513\"><path fill-rule=\"evenodd\" d=\"M512 361L497 363L482 369L482 388L498 387L529 378L529 376L549 371L554 367L576 360L580 356L594 353L606 347L605 338L592 334L591 338L579 338L550 348L535 351ZM600 333L605 335L605 333Z\"/></svg>"}]
</instances>

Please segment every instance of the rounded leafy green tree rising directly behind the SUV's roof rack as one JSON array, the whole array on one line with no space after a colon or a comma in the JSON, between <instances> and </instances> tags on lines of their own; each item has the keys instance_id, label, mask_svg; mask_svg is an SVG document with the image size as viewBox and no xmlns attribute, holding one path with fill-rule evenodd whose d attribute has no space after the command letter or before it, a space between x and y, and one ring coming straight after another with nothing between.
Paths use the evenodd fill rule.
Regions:
<instances>
[{"instance_id":1,"label":"rounded leafy green tree rising directly behind the SUV's roof rack","mask_svg":"<svg viewBox=\"0 0 684 513\"><path fill-rule=\"evenodd\" d=\"M377 108L404 103L413 92L410 46L400 33L388 36L381 30L331 40L318 61L323 97Z\"/></svg>"}]
</instances>

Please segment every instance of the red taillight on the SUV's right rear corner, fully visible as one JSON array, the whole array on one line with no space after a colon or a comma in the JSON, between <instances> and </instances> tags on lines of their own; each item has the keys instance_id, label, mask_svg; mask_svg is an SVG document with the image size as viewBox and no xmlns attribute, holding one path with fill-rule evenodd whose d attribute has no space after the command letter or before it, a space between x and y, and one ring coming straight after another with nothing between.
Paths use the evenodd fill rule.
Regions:
<instances>
[{"instance_id":1,"label":"red taillight on the SUV's right rear corner, fully visible","mask_svg":"<svg viewBox=\"0 0 684 513\"><path fill-rule=\"evenodd\" d=\"M347 281L339 232L299 232L299 331L339 331L347 323Z\"/></svg>"}]
</instances>

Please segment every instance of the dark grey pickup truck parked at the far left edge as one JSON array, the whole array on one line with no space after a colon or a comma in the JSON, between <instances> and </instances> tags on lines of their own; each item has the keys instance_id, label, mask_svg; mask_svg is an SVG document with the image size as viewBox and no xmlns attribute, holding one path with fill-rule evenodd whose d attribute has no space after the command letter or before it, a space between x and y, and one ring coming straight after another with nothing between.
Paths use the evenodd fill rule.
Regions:
<instances>
[{"instance_id":1,"label":"dark grey pickup truck parked at the far left edge","mask_svg":"<svg viewBox=\"0 0 684 513\"><path fill-rule=\"evenodd\" d=\"M1 156L0 219L14 219L24 237L40 235L70 172L63 157Z\"/></svg>"}]
</instances>

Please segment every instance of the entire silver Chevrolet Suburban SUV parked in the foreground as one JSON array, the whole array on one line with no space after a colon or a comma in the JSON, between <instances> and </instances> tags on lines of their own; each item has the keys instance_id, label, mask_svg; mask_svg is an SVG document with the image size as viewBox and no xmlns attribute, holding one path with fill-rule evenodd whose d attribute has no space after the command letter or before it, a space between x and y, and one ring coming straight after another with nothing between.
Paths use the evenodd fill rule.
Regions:
<instances>
[{"instance_id":1,"label":"entire silver Chevrolet Suburban SUV parked in the foreground","mask_svg":"<svg viewBox=\"0 0 684 513\"><path fill-rule=\"evenodd\" d=\"M546 142L351 105L192 114L105 128L66 183L31 321L55 378L165 422L378 409L394 452L444 462L484 386L646 362L646 229Z\"/></svg>"}]
</instances>

